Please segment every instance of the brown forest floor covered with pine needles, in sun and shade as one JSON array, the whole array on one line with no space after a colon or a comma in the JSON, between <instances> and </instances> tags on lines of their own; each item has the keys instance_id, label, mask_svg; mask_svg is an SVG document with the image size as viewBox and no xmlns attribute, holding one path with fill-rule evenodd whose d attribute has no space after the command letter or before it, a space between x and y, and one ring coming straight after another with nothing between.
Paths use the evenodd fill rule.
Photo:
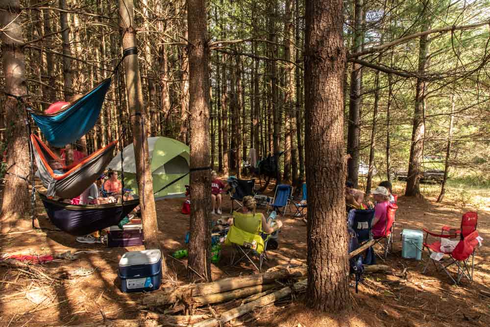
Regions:
<instances>
[{"instance_id":1,"label":"brown forest floor covered with pine needles, in sun and shade","mask_svg":"<svg viewBox=\"0 0 490 327\"><path fill-rule=\"evenodd\" d=\"M395 186L395 193L402 193ZM294 301L281 301L266 306L241 318L244 326L268 327L368 327L368 326L489 326L490 298L480 291L490 291L490 201L479 205L478 230L484 238L483 246L475 255L474 281L463 281L453 286L449 278L430 266L422 274L423 261L401 257L400 232L405 229L428 228L440 230L442 225L458 227L461 215L471 210L456 196L447 197L442 204L433 196L414 199L400 196L396 212L394 254L385 262L402 271L407 268L407 280L385 274L365 275L356 294L351 287L353 308L340 315L318 314L302 304L301 295ZM159 228L163 232L162 248L173 280L185 281L185 260L170 257L175 250L185 247L184 235L189 229L189 216L180 213L183 199L157 202ZM101 244L81 244L71 235L47 231L49 223L42 204L38 204L40 223L45 231L32 231L30 221L19 222L18 227L0 235L0 254L42 255L67 250L87 251L73 261L60 259L43 265L45 276L28 275L0 265L0 326L47 327L72 326L102 322L106 319L131 319L137 316L142 294L125 294L119 289L118 262L127 251L143 247L106 248ZM229 212L231 202L225 196L223 211ZM265 212L265 210L263 210ZM227 217L223 214L220 218ZM218 219L219 216L213 217ZM279 248L269 251L266 269L288 263L293 258L306 259L306 226L302 220L287 213L279 236ZM95 252L93 252L95 251ZM427 260L427 255L423 255ZM221 262L212 265L214 280L256 273L251 265L231 267L229 252L222 251ZM89 276L73 276L83 267ZM27 277L28 276L28 277ZM238 303L238 304L237 304ZM215 305L220 313L239 302ZM208 309L205 308L206 313ZM199 312L198 312L199 313ZM226 325L225 325L226 326ZM237 326L237 325L235 325Z\"/></svg>"}]
</instances>

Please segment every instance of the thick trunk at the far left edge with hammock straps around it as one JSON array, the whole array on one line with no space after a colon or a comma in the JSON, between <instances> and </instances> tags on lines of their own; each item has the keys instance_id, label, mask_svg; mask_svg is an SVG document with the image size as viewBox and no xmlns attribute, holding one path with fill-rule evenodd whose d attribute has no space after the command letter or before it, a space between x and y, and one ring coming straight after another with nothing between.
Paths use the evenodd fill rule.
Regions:
<instances>
[{"instance_id":1,"label":"thick trunk at the far left edge with hammock straps around it","mask_svg":"<svg viewBox=\"0 0 490 327\"><path fill-rule=\"evenodd\" d=\"M5 93L16 96L27 94L25 80L24 41L22 33L21 8L19 0L0 1L1 55L5 76ZM1 207L1 232L7 232L19 218L29 214L30 162L28 138L25 128L25 105L13 96L4 102L7 149L6 174Z\"/></svg>"}]
</instances>

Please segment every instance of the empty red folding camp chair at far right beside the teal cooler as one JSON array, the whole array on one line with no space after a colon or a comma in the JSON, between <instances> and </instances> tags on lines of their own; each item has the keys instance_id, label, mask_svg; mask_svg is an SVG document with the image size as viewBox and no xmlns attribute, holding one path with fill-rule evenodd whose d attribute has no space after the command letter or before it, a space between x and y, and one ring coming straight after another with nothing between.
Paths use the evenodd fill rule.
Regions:
<instances>
[{"instance_id":1,"label":"empty red folding camp chair at far right beside the teal cooler","mask_svg":"<svg viewBox=\"0 0 490 327\"><path fill-rule=\"evenodd\" d=\"M441 234L434 234L429 232L426 229L423 231L426 233L425 241L423 246L427 249L429 254L429 260L424 267L422 273L427 271L427 268L432 261L436 270L442 268L444 272L449 276L449 278L455 283L458 284L463 277L466 277L468 280L473 280L473 269L474 269L474 257L475 257L475 248L479 245L481 238L478 235L478 231L476 230L476 226L478 224L478 214L476 212L466 212L463 215L461 220L461 229L457 230L451 228L449 226L442 226ZM448 233L448 234L446 234ZM433 237L437 237L440 240L428 243L428 236L431 235ZM442 243L449 243L445 240L459 241L454 247L451 249L450 246L444 246ZM469 258L471 257L471 271L468 268ZM448 268L450 266L456 265L458 267L458 272L456 274L456 279L449 273Z\"/></svg>"}]
</instances>

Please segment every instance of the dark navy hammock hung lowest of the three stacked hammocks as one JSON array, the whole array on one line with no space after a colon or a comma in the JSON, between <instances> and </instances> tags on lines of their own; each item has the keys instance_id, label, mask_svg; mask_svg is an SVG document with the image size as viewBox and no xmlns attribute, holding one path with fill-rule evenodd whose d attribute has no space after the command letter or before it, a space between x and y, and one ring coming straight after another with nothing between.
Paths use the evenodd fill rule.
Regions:
<instances>
[{"instance_id":1,"label":"dark navy hammock hung lowest of the three stacked hammocks","mask_svg":"<svg viewBox=\"0 0 490 327\"><path fill-rule=\"evenodd\" d=\"M139 205L139 200L109 203L98 206L74 206L49 200L39 193L44 208L54 226L71 235L82 236L119 224Z\"/></svg>"}]
</instances>

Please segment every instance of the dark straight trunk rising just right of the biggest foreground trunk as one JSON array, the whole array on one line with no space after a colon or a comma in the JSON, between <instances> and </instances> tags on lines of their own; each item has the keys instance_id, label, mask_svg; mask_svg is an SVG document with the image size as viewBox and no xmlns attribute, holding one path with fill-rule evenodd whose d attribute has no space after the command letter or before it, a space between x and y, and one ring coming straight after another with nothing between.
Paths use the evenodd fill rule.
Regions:
<instances>
[{"instance_id":1,"label":"dark straight trunk rising just right of the biggest foreground trunk","mask_svg":"<svg viewBox=\"0 0 490 327\"><path fill-rule=\"evenodd\" d=\"M363 45L363 0L354 0L355 4L355 23L354 23L354 42L352 52L360 52ZM347 153L351 159L347 164L347 178L358 187L359 175L359 137L360 137L360 116L361 116L361 65L354 63L350 75L350 101L349 101L349 121L347 133Z\"/></svg>"}]
</instances>

